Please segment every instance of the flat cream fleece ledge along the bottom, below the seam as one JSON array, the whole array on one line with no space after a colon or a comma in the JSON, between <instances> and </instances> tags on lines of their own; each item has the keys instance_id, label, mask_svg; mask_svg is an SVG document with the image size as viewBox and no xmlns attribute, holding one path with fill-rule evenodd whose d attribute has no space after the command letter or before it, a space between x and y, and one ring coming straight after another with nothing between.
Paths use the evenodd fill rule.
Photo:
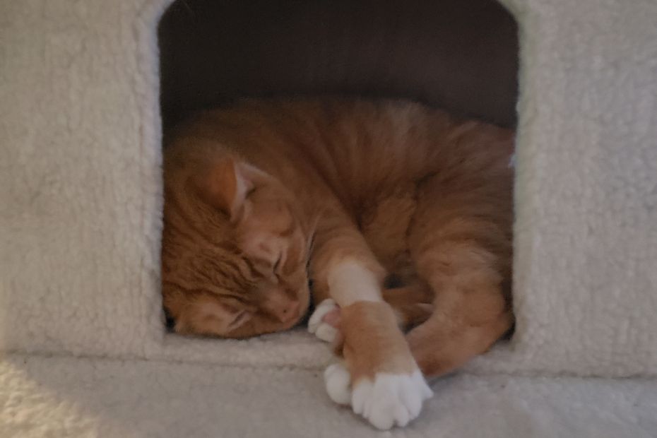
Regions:
<instances>
[{"instance_id":1,"label":"flat cream fleece ledge along the bottom, below the seam","mask_svg":"<svg viewBox=\"0 0 657 438\"><path fill-rule=\"evenodd\" d=\"M449 377L403 430L329 401L319 372L12 355L0 437L649 438L657 381Z\"/></svg>"}]
</instances>

